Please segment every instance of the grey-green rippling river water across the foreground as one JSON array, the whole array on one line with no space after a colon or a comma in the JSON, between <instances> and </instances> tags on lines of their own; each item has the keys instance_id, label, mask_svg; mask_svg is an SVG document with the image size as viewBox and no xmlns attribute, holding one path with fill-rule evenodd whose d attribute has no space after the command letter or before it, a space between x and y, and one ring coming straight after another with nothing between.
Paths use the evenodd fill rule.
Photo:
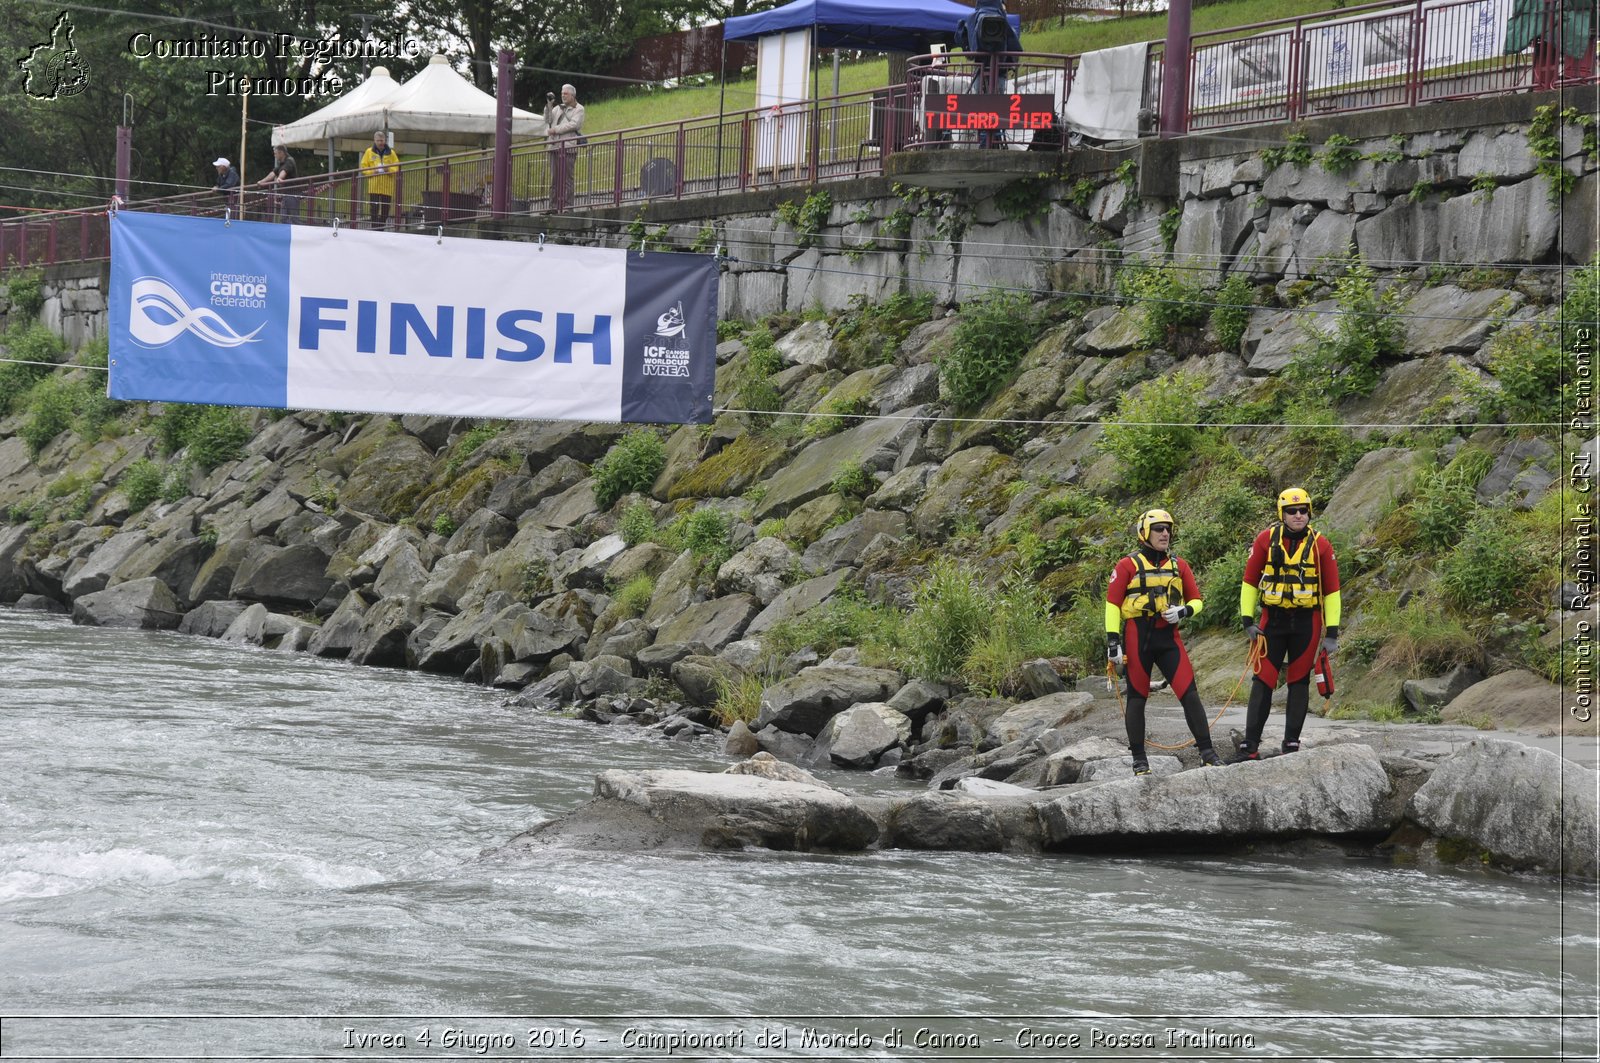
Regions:
<instances>
[{"instance_id":1,"label":"grey-green rippling river water across the foreground","mask_svg":"<svg viewBox=\"0 0 1600 1063\"><path fill-rule=\"evenodd\" d=\"M726 760L173 634L0 610L0 1058L1595 1053L1582 887L1341 855L486 856L597 770Z\"/></svg>"}]
</instances>

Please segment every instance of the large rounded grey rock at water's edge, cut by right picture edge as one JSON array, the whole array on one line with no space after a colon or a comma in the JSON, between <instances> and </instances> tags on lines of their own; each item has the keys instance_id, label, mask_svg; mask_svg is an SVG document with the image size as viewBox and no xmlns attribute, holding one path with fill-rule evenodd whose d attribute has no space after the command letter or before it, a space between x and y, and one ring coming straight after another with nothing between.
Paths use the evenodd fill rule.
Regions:
<instances>
[{"instance_id":1,"label":"large rounded grey rock at water's edge, cut by right picture edge","mask_svg":"<svg viewBox=\"0 0 1600 1063\"><path fill-rule=\"evenodd\" d=\"M1546 749L1485 738L1434 768L1406 815L1499 863L1592 880L1595 781L1594 770Z\"/></svg>"}]
</instances>

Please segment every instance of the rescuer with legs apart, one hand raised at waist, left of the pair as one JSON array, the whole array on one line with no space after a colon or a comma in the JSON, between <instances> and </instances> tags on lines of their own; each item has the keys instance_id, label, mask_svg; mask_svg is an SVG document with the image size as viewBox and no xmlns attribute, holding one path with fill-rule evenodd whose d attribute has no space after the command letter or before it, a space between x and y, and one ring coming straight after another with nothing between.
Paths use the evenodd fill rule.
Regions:
<instances>
[{"instance_id":1,"label":"rescuer with legs apart, one hand raised at waist, left of the pair","mask_svg":"<svg viewBox=\"0 0 1600 1063\"><path fill-rule=\"evenodd\" d=\"M1144 756L1144 703L1150 696L1152 668L1162 669L1184 706L1184 722L1195 736L1200 764L1218 765L1221 760L1211 748L1211 727L1195 690L1189 653L1178 636L1178 624L1200 612L1200 589L1189 562L1171 554L1170 512L1150 509L1141 514L1134 533L1139 549L1117 562L1106 588L1106 658L1128 669L1123 722L1128 725L1133 773L1150 773Z\"/></svg>"}]
</instances>

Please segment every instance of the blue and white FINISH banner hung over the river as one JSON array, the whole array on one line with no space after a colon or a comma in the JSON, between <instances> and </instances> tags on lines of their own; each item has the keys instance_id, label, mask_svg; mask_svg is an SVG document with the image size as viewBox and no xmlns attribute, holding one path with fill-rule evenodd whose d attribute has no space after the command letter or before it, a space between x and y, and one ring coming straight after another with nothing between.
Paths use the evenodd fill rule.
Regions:
<instances>
[{"instance_id":1,"label":"blue and white FINISH banner hung over the river","mask_svg":"<svg viewBox=\"0 0 1600 1063\"><path fill-rule=\"evenodd\" d=\"M706 255L120 211L110 288L114 399L710 421Z\"/></svg>"}]
</instances>

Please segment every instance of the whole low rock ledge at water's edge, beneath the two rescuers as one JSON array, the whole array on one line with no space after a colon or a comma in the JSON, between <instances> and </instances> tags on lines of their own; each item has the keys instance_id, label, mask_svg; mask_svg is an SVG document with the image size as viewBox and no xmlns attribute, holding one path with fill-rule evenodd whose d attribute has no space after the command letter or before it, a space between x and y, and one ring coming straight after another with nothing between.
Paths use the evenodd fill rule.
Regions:
<instances>
[{"instance_id":1,"label":"whole low rock ledge at water's edge, beneath the two rescuers","mask_svg":"<svg viewBox=\"0 0 1600 1063\"><path fill-rule=\"evenodd\" d=\"M1050 733L1035 740L1056 744ZM771 754L725 773L605 772L594 800L510 850L1227 853L1342 845L1424 866L1498 864L1592 880L1597 775L1507 740L1424 762L1362 743L1131 778L1091 740L1048 754L1043 789L976 776L952 789L851 796ZM1112 764L1112 772L1096 765Z\"/></svg>"}]
</instances>

